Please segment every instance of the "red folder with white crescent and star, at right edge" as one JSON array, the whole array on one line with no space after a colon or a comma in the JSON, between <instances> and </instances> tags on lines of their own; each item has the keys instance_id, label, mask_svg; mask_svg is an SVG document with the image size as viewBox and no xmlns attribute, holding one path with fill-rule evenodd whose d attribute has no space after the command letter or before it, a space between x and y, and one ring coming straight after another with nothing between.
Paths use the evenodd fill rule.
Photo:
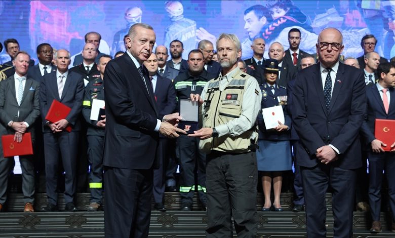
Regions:
<instances>
[{"instance_id":1,"label":"red folder with white crescent and star, at right edge","mask_svg":"<svg viewBox=\"0 0 395 238\"><path fill-rule=\"evenodd\" d=\"M387 145L382 146L384 151L390 151L395 142L395 120L376 119L374 137Z\"/></svg>"}]
</instances>

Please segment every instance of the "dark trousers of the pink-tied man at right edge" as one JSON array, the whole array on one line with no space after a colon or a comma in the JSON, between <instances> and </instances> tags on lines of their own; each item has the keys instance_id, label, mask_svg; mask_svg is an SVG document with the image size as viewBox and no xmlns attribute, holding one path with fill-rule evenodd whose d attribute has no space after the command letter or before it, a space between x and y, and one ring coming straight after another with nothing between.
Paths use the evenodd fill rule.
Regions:
<instances>
[{"instance_id":1,"label":"dark trousers of the pink-tied man at right edge","mask_svg":"<svg viewBox=\"0 0 395 238\"><path fill-rule=\"evenodd\" d=\"M369 205L373 221L380 220L383 170L388 182L389 207L395 222L395 154L369 153Z\"/></svg>"}]
</instances>

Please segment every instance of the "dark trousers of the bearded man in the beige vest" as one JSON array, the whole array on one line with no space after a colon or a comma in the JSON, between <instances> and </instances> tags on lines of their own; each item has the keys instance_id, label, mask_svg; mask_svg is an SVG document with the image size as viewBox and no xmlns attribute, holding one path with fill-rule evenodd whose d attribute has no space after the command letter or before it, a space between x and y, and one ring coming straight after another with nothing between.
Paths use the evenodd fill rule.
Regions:
<instances>
[{"instance_id":1,"label":"dark trousers of the bearded man in the beige vest","mask_svg":"<svg viewBox=\"0 0 395 238\"><path fill-rule=\"evenodd\" d=\"M257 170L255 152L207 155L206 237L233 237L232 215L238 237L255 237Z\"/></svg>"}]
</instances>

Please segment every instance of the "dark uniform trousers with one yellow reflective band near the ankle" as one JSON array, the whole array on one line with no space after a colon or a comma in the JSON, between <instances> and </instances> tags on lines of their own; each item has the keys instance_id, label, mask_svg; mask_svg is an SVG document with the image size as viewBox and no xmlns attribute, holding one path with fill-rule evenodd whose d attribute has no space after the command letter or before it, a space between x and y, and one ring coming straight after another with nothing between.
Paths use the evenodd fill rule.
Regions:
<instances>
[{"instance_id":1,"label":"dark uniform trousers with one yellow reflective band near the ankle","mask_svg":"<svg viewBox=\"0 0 395 238\"><path fill-rule=\"evenodd\" d=\"M89 174L89 189L91 203L102 203L103 197L103 148L104 136L88 135L88 158L91 165Z\"/></svg>"}]
</instances>

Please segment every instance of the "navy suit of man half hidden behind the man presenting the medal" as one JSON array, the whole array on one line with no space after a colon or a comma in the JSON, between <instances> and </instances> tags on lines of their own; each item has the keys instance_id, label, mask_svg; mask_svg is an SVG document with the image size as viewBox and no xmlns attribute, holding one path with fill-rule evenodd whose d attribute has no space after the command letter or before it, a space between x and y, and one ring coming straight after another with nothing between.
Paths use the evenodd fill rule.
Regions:
<instances>
[{"instance_id":1,"label":"navy suit of man half hidden behind the man presenting the medal","mask_svg":"<svg viewBox=\"0 0 395 238\"><path fill-rule=\"evenodd\" d=\"M171 80L156 74L155 86L155 101L157 109L159 110L159 118L163 118L166 114L171 114L175 111L176 91ZM165 170L169 160L169 146L174 139L166 138L160 135L159 147L157 151L157 158L159 161L159 168L153 171L153 198L155 203L162 203L165 192Z\"/></svg>"}]
</instances>

